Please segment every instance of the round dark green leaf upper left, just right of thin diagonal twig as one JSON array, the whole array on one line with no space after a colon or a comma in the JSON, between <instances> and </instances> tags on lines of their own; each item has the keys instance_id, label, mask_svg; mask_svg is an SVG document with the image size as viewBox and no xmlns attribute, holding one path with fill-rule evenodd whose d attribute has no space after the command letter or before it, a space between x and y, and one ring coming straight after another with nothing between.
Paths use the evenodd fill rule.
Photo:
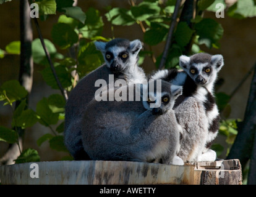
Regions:
<instances>
[{"instance_id":1,"label":"round dark green leaf upper left, just right of thin diagonal twig","mask_svg":"<svg viewBox=\"0 0 256 197\"><path fill-rule=\"evenodd\" d=\"M51 31L53 42L58 44L61 49L67 49L78 41L78 35L65 23L57 23Z\"/></svg>"}]
</instances>

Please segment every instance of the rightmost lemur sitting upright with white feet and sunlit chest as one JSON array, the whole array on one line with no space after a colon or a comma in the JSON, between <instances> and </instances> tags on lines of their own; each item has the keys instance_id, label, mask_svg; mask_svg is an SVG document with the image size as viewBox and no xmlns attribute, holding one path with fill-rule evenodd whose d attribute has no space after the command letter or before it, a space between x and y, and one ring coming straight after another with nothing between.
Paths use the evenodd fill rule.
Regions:
<instances>
[{"instance_id":1,"label":"rightmost lemur sitting upright with white feet and sunlit chest","mask_svg":"<svg viewBox=\"0 0 256 197\"><path fill-rule=\"evenodd\" d=\"M216 159L216 153L213 150L209 150L211 143L218 134L220 121L218 108L213 96L213 87L217 74L223 65L222 55L210 55L204 53L195 54L191 57L181 55L180 66L183 70L161 70L157 71L150 77L151 79L164 79L171 82L171 84L183 86L183 94L177 98L177 102L174 105L177 119L180 119L179 123L182 125L183 122L184 124L184 130L186 131L184 132L184 135L186 133L189 134L189 138L187 140L184 136L183 143L189 144L191 142L199 142L197 140L193 140L193 134L196 134L198 129L207 130L207 132L203 132L203 130L200 132L202 133L201 137L197 135L194 136L195 138L196 136L200 137L199 146L203 147L198 150L202 150L203 154L192 154L194 156L190 155L188 158L184 156L182 158L184 161L214 161ZM190 102L192 102L191 105ZM190 107L188 105L190 105ZM195 105L197 107L195 107ZM183 115L182 112L184 112ZM202 113L205 113L205 118L196 116L202 115ZM191 118L193 118L194 114L194 117L197 117L198 126L197 123L191 122ZM207 124L206 128L202 125L199 126L200 124ZM191 151L194 151L194 149L191 149Z\"/></svg>"}]
</instances>

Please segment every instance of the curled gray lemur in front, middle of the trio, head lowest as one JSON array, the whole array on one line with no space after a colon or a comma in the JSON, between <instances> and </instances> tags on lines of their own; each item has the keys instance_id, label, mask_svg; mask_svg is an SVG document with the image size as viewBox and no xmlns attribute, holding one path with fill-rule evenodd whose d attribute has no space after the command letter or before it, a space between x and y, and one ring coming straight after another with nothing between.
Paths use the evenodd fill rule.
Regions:
<instances>
[{"instance_id":1,"label":"curled gray lemur in front, middle of the trio, head lowest","mask_svg":"<svg viewBox=\"0 0 256 197\"><path fill-rule=\"evenodd\" d=\"M176 156L182 129L173 111L174 100L182 94L182 87L159 81L161 88L154 86L153 91L147 92L150 86L147 84L143 84L142 89L139 87L139 91L145 92L143 95L148 98L143 102L141 99L119 102L97 102L93 99L90 102L82 121L83 147L90 158L183 164L182 159ZM129 88L120 87L124 90ZM160 105L152 106L154 103Z\"/></svg>"}]
</instances>

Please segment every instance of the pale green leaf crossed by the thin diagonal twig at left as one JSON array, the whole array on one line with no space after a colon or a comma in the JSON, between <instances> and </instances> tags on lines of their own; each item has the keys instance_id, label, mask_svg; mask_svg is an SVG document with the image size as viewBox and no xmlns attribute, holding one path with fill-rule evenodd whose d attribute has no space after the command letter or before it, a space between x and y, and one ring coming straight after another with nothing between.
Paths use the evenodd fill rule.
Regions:
<instances>
[{"instance_id":1,"label":"pale green leaf crossed by the thin diagonal twig at left","mask_svg":"<svg viewBox=\"0 0 256 197\"><path fill-rule=\"evenodd\" d=\"M57 53L56 47L51 41L49 41L48 39L44 39L44 41L45 41L46 49L48 50L51 58L54 58L54 57L63 58L61 54ZM43 46L39 38L36 38L32 42L32 56L35 63L49 65L45 55L45 50L43 49Z\"/></svg>"}]
</instances>

